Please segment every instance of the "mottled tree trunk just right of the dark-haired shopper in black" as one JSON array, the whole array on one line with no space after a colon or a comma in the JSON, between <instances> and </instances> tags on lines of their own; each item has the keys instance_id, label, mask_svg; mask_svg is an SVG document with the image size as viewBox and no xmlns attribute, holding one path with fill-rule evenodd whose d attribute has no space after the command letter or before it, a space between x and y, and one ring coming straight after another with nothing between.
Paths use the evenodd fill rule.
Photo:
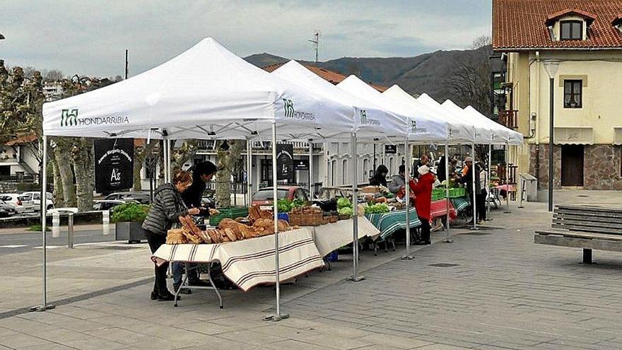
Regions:
<instances>
[{"instance_id":1,"label":"mottled tree trunk just right of the dark-haired shopper in black","mask_svg":"<svg viewBox=\"0 0 622 350\"><path fill-rule=\"evenodd\" d=\"M223 144L227 144L223 149ZM220 141L217 145L218 164L216 167L216 204L218 206L231 205L231 176L235 173L236 165L240 161L245 141Z\"/></svg>"}]
</instances>

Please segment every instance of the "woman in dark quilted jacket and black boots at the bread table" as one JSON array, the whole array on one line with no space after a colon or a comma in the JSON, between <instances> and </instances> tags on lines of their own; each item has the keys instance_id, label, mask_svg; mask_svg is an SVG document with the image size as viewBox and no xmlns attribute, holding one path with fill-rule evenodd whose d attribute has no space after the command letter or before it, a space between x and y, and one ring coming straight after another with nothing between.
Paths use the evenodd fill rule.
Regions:
<instances>
[{"instance_id":1,"label":"woman in dark quilted jacket and black boots at the bread table","mask_svg":"<svg viewBox=\"0 0 622 350\"><path fill-rule=\"evenodd\" d=\"M153 193L151 209L142 226L151 253L166 243L166 233L173 223L179 222L180 216L199 214L199 208L188 209L181 196L190 185L192 185L192 175L180 170L172 177L172 182L161 185ZM167 269L168 263L155 265L155 282L153 291L151 291L151 300L172 301L175 299L166 286Z\"/></svg>"}]
</instances>

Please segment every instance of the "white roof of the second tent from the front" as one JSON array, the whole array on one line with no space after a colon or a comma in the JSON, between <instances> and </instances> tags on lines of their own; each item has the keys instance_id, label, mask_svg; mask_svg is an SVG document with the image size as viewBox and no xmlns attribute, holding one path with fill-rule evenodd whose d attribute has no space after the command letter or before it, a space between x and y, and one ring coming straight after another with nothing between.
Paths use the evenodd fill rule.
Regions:
<instances>
[{"instance_id":1,"label":"white roof of the second tent from the front","mask_svg":"<svg viewBox=\"0 0 622 350\"><path fill-rule=\"evenodd\" d=\"M351 123L355 125L358 138L376 138L381 136L380 134L394 136L396 132L401 133L404 130L403 128L399 130L385 128L384 121L392 118L392 115L389 115L385 109L368 100L363 100L347 93L294 60L283 64L273 71L272 74L300 86L305 86L305 88L322 95L324 98L337 100L339 103L352 106ZM364 113L367 117L367 123L361 123L361 113ZM349 141L350 136L347 137L346 141Z\"/></svg>"}]
</instances>

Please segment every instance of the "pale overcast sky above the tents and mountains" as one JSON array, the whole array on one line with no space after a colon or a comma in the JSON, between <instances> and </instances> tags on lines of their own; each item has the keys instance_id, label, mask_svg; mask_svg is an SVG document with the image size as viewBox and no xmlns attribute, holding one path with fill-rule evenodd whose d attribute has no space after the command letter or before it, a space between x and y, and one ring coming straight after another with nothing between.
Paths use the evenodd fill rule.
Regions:
<instances>
[{"instance_id":1,"label":"pale overcast sky above the tents and mountains","mask_svg":"<svg viewBox=\"0 0 622 350\"><path fill-rule=\"evenodd\" d=\"M491 0L4 0L0 59L66 75L130 76L204 37L239 56L410 57L490 35Z\"/></svg>"}]
</instances>

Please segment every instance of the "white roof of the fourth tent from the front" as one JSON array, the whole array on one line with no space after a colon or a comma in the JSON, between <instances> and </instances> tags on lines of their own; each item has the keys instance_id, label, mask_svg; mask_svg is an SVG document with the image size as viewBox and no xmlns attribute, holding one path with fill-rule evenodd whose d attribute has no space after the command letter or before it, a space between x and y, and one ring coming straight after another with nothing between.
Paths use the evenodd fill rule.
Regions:
<instances>
[{"instance_id":1,"label":"white roof of the fourth tent from the front","mask_svg":"<svg viewBox=\"0 0 622 350\"><path fill-rule=\"evenodd\" d=\"M393 103L399 103L410 110L419 111L431 119L445 122L447 125L447 137L450 142L471 142L474 138L474 132L469 125L457 120L439 107L430 107L419 102L397 85L391 86L382 95L389 98Z\"/></svg>"}]
</instances>

